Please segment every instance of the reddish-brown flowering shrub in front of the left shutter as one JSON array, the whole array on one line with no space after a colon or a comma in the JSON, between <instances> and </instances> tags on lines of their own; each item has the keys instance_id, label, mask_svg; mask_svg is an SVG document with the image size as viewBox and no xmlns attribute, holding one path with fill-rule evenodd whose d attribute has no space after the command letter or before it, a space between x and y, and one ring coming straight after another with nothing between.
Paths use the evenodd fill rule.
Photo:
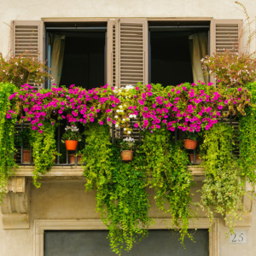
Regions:
<instances>
[{"instance_id":1,"label":"reddish-brown flowering shrub in front of the left shutter","mask_svg":"<svg viewBox=\"0 0 256 256\"><path fill-rule=\"evenodd\" d=\"M44 78L51 79L49 68L36 58L26 54L3 58L0 53L0 81L3 83L27 84L32 81L34 84L42 84Z\"/></svg>"}]
</instances>

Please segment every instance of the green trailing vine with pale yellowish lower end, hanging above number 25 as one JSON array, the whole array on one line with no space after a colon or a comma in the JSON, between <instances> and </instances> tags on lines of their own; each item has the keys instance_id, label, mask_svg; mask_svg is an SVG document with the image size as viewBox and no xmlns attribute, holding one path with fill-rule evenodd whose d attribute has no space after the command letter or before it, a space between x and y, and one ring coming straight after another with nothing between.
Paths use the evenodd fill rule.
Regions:
<instances>
[{"instance_id":1,"label":"green trailing vine with pale yellowish lower end, hanging above number 25","mask_svg":"<svg viewBox=\"0 0 256 256\"><path fill-rule=\"evenodd\" d=\"M240 179L241 169L236 155L232 154L233 127L218 123L205 132L201 145L202 166L206 178L201 189L201 204L210 218L213 212L222 216L229 214L227 220L232 229L232 222L238 218L241 196L244 195L244 182Z\"/></svg>"}]
</instances>

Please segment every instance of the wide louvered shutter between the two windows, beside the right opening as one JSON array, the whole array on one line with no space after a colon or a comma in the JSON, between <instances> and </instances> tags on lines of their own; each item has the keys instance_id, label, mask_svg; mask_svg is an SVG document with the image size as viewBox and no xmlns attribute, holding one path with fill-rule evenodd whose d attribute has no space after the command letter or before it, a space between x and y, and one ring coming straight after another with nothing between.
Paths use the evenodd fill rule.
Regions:
<instances>
[{"instance_id":1,"label":"wide louvered shutter between the two windows, beside the right opening","mask_svg":"<svg viewBox=\"0 0 256 256\"><path fill-rule=\"evenodd\" d=\"M116 24L116 81L118 86L148 83L148 21L120 19Z\"/></svg>"}]
</instances>

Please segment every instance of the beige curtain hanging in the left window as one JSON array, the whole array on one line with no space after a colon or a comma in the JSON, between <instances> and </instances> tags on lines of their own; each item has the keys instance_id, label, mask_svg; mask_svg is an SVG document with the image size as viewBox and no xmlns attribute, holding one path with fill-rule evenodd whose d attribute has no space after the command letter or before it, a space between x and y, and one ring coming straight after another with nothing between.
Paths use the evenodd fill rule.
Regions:
<instances>
[{"instance_id":1,"label":"beige curtain hanging in the left window","mask_svg":"<svg viewBox=\"0 0 256 256\"><path fill-rule=\"evenodd\" d=\"M50 34L52 50L51 50L51 74L53 81L59 87L61 82L61 71L63 66L65 36L58 34Z\"/></svg>"}]
</instances>

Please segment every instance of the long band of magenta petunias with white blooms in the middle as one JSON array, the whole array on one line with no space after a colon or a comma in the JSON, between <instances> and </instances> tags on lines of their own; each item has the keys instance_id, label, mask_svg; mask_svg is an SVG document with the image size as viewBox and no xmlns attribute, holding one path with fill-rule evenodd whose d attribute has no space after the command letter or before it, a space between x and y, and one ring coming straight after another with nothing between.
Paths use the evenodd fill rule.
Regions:
<instances>
[{"instance_id":1,"label":"long band of magenta petunias with white blooms in the middle","mask_svg":"<svg viewBox=\"0 0 256 256\"><path fill-rule=\"evenodd\" d=\"M108 84L91 90L75 87L33 90L24 84L9 97L14 102L7 118L18 115L20 122L28 121L32 130L43 132L45 119L55 125L67 119L71 125L99 125L108 123L123 128L126 134L132 130L160 129L166 126L174 131L209 130L224 113L244 114L250 104L250 93L242 88L222 90L213 84L179 84L162 87L160 84L127 85L117 89Z\"/></svg>"}]
</instances>

